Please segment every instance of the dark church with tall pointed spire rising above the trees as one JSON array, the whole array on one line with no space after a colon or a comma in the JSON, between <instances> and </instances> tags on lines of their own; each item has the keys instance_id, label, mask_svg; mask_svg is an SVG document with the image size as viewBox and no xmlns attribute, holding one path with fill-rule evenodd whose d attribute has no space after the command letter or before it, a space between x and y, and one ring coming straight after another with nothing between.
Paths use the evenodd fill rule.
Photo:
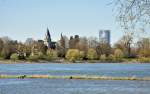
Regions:
<instances>
[{"instance_id":1,"label":"dark church with tall pointed spire rising above the trees","mask_svg":"<svg viewBox=\"0 0 150 94\"><path fill-rule=\"evenodd\" d=\"M47 28L47 32L46 32L46 35L45 35L45 42L44 43L50 49L55 49L56 48L56 42L52 41L51 34L50 34L48 28Z\"/></svg>"}]
</instances>

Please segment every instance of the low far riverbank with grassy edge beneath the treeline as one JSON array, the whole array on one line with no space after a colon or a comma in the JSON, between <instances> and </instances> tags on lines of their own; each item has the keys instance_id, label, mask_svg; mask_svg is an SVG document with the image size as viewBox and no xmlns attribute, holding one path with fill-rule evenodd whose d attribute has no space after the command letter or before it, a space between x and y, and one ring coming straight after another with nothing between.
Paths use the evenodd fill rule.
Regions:
<instances>
[{"instance_id":1,"label":"low far riverbank with grassy edge beneath the treeline","mask_svg":"<svg viewBox=\"0 0 150 94\"><path fill-rule=\"evenodd\" d=\"M58 59L58 60L37 60L37 61L29 61L29 60L0 60L0 64L19 64L19 63L64 63L64 64L71 64L71 63L150 63L150 61L141 62L140 59L124 59L122 61L101 61L101 60L78 60L74 62L70 62L68 60L64 59Z\"/></svg>"}]
</instances>

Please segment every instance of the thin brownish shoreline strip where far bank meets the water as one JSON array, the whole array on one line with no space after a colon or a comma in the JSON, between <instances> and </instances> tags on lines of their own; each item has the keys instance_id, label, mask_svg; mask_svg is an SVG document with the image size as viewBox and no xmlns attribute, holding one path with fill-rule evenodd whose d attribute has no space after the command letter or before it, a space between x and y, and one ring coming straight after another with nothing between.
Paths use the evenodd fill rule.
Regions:
<instances>
[{"instance_id":1,"label":"thin brownish shoreline strip where far bank meets the water","mask_svg":"<svg viewBox=\"0 0 150 94\"><path fill-rule=\"evenodd\" d=\"M0 64L36 64L36 63L41 63L41 64L44 64L44 63L50 63L50 64L79 64L79 63L82 63L82 64L102 64L102 63L106 63L106 64L112 64L112 63L120 63L120 64L150 64L150 62L132 62L132 61L127 61L127 62L111 62L111 61L100 61L100 60L83 60L83 61L76 61L76 62L69 62L69 61L66 61L66 60L52 60L52 61L47 61L47 60L38 60L38 61L28 61L28 60L17 60L17 61L14 61L14 60L0 60Z\"/></svg>"}]
</instances>

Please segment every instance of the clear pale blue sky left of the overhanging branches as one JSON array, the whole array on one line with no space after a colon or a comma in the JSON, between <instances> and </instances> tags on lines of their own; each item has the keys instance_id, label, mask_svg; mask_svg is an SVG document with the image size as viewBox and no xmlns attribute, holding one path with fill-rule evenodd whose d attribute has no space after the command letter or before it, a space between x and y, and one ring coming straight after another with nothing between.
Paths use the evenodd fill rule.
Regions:
<instances>
[{"instance_id":1,"label":"clear pale blue sky left of the overhanging branches","mask_svg":"<svg viewBox=\"0 0 150 94\"><path fill-rule=\"evenodd\" d=\"M122 36L112 0L0 0L0 37L24 42L44 39L47 27L52 40L60 34L97 37L111 30L111 43Z\"/></svg>"}]
</instances>

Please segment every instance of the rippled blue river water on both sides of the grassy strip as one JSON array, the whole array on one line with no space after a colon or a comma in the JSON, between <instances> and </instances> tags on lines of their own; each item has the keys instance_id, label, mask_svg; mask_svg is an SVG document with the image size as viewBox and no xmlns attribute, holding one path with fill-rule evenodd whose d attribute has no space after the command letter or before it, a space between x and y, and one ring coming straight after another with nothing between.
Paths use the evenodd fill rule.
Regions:
<instances>
[{"instance_id":1,"label":"rippled blue river water on both sides of the grassy strip","mask_svg":"<svg viewBox=\"0 0 150 94\"><path fill-rule=\"evenodd\" d=\"M150 64L0 64L0 74L150 77ZM0 79L0 94L150 94L150 81Z\"/></svg>"}]
</instances>

